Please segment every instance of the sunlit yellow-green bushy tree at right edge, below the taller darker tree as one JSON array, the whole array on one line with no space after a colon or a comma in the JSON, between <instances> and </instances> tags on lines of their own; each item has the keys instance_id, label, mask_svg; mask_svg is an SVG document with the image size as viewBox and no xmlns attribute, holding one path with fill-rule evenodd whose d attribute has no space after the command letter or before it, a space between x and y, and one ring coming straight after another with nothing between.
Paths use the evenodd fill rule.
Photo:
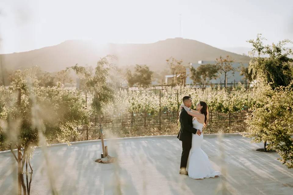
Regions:
<instances>
[{"instance_id":1,"label":"sunlit yellow-green bushy tree at right edge, below the taller darker tree","mask_svg":"<svg viewBox=\"0 0 293 195\"><path fill-rule=\"evenodd\" d=\"M255 107L249 118L248 132L244 137L250 137L254 142L269 141L264 149L278 151L280 160L288 168L293 168L293 86L277 87L272 90L269 85L260 84L259 92L266 93L266 102ZM262 101L263 102L263 101Z\"/></svg>"}]
</instances>

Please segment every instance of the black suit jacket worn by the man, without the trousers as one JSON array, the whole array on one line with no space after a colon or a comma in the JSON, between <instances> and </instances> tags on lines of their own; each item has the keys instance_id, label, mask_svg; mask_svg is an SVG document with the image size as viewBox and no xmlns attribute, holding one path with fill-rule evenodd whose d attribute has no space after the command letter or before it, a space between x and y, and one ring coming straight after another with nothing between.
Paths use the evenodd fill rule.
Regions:
<instances>
[{"instance_id":1,"label":"black suit jacket worn by the man, without the trousers","mask_svg":"<svg viewBox=\"0 0 293 195\"><path fill-rule=\"evenodd\" d=\"M191 143L192 134L196 134L197 129L194 129L192 126L192 116L189 115L184 108L182 108L180 116L180 131L178 133L177 138L180 141L187 141Z\"/></svg>"}]
</instances>

